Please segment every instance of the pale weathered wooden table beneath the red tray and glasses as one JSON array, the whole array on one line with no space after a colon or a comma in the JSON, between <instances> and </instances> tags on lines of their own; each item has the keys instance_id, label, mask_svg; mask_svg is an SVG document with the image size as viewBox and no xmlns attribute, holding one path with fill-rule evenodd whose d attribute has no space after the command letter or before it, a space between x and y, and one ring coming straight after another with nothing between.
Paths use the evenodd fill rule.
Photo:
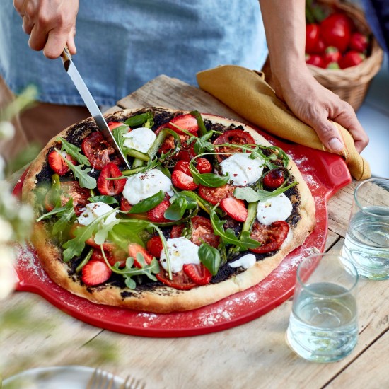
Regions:
<instances>
[{"instance_id":1,"label":"pale weathered wooden table beneath the red tray and glasses","mask_svg":"<svg viewBox=\"0 0 389 389\"><path fill-rule=\"evenodd\" d=\"M117 105L112 110L159 105L245 122L204 91L166 76L147 83ZM342 248L355 184L339 190L328 202L328 252ZM4 377L25 368L86 365L123 377L131 374L143 379L146 388L388 388L388 285L361 280L359 342L350 356L332 364L305 361L286 345L291 299L229 330L151 338L101 330L62 313L40 296L16 292L0 302L4 317L18 310L19 323L25 324L20 328L3 323Z\"/></svg>"}]
</instances>

